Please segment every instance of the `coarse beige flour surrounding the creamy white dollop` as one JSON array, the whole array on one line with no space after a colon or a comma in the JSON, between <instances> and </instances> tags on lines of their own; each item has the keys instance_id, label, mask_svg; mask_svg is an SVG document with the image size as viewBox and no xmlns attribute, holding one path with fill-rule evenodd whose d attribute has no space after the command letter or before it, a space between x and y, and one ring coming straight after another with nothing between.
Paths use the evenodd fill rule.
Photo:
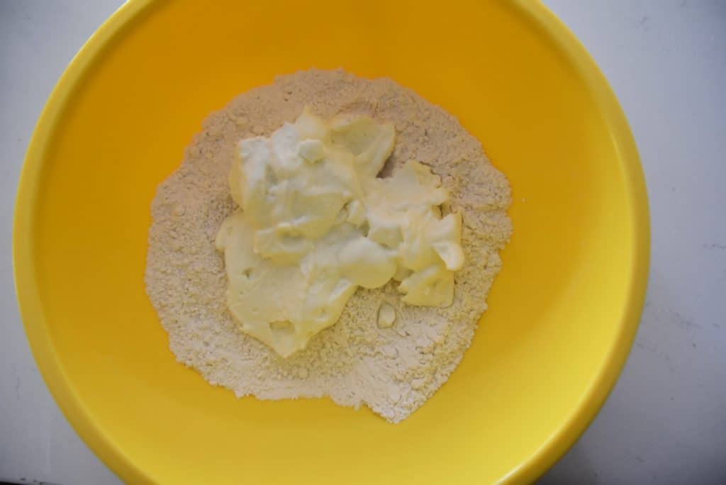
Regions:
<instances>
[{"instance_id":1,"label":"coarse beige flour surrounding the creamy white dollop","mask_svg":"<svg viewBox=\"0 0 726 485\"><path fill-rule=\"evenodd\" d=\"M242 333L227 310L227 279L214 239L234 205L229 168L237 142L269 136L308 105L322 118L364 114L396 126L396 147L383 176L417 160L441 176L452 211L463 216L466 262L456 273L448 308L402 303L396 282L359 288L338 322L287 359ZM343 70L281 76L211 114L184 161L158 187L146 267L146 288L179 362L237 396L285 399L330 396L365 404L393 423L420 407L459 364L486 309L501 267L498 250L511 233L510 187L481 144L444 110L389 79L369 81ZM378 309L396 311L379 328Z\"/></svg>"}]
</instances>

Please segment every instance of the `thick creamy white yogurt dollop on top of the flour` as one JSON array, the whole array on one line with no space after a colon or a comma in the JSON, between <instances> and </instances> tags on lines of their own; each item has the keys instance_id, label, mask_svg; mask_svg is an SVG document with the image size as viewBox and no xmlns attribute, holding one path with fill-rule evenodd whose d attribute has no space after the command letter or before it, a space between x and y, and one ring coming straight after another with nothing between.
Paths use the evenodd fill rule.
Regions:
<instances>
[{"instance_id":1,"label":"thick creamy white yogurt dollop on top of the flour","mask_svg":"<svg viewBox=\"0 0 726 485\"><path fill-rule=\"evenodd\" d=\"M461 215L439 176L409 161L376 177L391 124L324 121L304 110L272 136L243 139L229 174L237 209L221 226L227 306L281 356L335 324L356 288L399 281L402 300L448 306L462 267Z\"/></svg>"}]
</instances>

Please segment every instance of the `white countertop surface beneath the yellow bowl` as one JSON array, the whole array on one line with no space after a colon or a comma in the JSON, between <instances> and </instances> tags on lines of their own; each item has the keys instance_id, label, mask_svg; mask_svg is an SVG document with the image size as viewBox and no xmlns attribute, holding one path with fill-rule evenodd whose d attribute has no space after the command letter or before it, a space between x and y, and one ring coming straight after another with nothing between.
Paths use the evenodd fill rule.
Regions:
<instances>
[{"instance_id":1,"label":"white countertop surface beneath the yellow bowl","mask_svg":"<svg viewBox=\"0 0 726 485\"><path fill-rule=\"evenodd\" d=\"M611 82L648 182L645 311L619 383L543 484L726 483L726 1L546 0ZM25 340L11 227L25 149L70 58L121 0L0 0L0 481L118 484Z\"/></svg>"}]
</instances>

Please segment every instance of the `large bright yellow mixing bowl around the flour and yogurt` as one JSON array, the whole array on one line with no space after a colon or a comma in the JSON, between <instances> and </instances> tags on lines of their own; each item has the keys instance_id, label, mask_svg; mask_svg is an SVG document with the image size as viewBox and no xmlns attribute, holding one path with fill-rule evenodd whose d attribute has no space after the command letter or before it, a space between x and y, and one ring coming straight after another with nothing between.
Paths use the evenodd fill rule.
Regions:
<instances>
[{"instance_id":1,"label":"large bright yellow mixing bowl around the flour and yogurt","mask_svg":"<svg viewBox=\"0 0 726 485\"><path fill-rule=\"evenodd\" d=\"M150 202L205 115L313 66L390 76L441 105L513 187L514 236L473 346L400 425L209 386L175 362L144 293ZM126 481L521 483L613 386L648 234L624 115L537 2L136 0L83 47L38 122L15 278L46 383Z\"/></svg>"}]
</instances>

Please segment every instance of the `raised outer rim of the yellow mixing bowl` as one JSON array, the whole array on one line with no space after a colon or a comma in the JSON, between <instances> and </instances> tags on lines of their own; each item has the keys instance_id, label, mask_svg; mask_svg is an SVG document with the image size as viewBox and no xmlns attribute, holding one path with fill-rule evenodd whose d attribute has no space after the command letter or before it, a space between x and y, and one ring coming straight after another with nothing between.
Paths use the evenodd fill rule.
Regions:
<instances>
[{"instance_id":1,"label":"raised outer rim of the yellow mixing bowl","mask_svg":"<svg viewBox=\"0 0 726 485\"><path fill-rule=\"evenodd\" d=\"M33 219L38 210L36 193L41 177L44 155L52 142L52 134L68 105L73 92L78 89L89 68L126 28L142 20L151 6L162 4L158 0L129 0L119 7L98 28L66 68L54 86L46 105L38 118L20 174L12 234L13 273L20 316L30 349L58 407L73 425L81 439L114 473L133 483L152 483L153 478L135 464L113 440L99 427L94 413L83 405L65 370L60 365L49 334L41 306L35 263L30 241L34 232ZM650 224L645 177L640 165L635 140L621 107L590 54L573 33L550 12L541 1L512 0L511 7L520 15L534 22L566 56L579 76L592 91L616 151L620 154L624 169L627 195L632 204L632 271L627 282L627 301L616 335L600 370L590 382L583 398L567 420L542 443L529 458L510 470L501 483L514 484L534 481L547 471L568 449L600 411L624 367L635 338L640 314L643 310L648 282L650 260Z\"/></svg>"}]
</instances>

